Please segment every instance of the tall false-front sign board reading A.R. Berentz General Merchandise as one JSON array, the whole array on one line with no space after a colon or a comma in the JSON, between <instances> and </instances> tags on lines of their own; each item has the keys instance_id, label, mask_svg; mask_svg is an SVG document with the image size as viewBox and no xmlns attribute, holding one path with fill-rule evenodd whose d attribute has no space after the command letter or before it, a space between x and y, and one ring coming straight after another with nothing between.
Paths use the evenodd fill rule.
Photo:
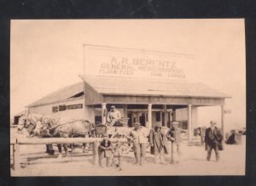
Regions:
<instances>
[{"instance_id":1,"label":"tall false-front sign board reading A.R. Berentz General Merchandise","mask_svg":"<svg viewBox=\"0 0 256 186\"><path fill-rule=\"evenodd\" d=\"M84 45L84 75L185 79L189 54Z\"/></svg>"}]
</instances>

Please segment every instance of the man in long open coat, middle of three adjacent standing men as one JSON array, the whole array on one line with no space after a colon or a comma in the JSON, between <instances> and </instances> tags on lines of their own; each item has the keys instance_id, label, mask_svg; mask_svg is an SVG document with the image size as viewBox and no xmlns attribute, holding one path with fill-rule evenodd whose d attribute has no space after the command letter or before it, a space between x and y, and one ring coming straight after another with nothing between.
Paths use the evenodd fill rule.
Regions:
<instances>
[{"instance_id":1,"label":"man in long open coat, middle of three adjacent standing men","mask_svg":"<svg viewBox=\"0 0 256 186\"><path fill-rule=\"evenodd\" d=\"M165 153L168 154L166 134L161 130L161 123L155 123L155 127L149 133L150 154L154 155L155 163L165 163Z\"/></svg>"}]
</instances>

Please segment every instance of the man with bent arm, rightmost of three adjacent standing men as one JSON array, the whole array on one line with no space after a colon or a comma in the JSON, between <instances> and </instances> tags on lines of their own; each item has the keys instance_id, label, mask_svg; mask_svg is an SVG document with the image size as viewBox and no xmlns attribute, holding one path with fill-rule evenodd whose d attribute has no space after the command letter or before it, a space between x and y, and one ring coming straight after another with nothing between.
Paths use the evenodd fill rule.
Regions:
<instances>
[{"instance_id":1,"label":"man with bent arm, rightmost of three adjacent standing men","mask_svg":"<svg viewBox=\"0 0 256 186\"><path fill-rule=\"evenodd\" d=\"M173 121L170 130L167 132L166 137L172 142L171 149L171 163L175 164L180 161L181 149L182 149L182 137L181 133L186 132L182 128L178 127L179 123Z\"/></svg>"}]
</instances>

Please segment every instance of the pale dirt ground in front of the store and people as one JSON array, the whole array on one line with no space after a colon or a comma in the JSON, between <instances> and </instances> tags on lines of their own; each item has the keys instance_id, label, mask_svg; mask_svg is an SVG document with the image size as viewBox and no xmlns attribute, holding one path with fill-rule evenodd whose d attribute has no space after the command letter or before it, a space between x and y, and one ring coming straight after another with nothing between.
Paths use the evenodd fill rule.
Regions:
<instances>
[{"instance_id":1,"label":"pale dirt ground in front of the store and people","mask_svg":"<svg viewBox=\"0 0 256 186\"><path fill-rule=\"evenodd\" d=\"M55 151L57 148L55 147ZM241 144L224 145L220 151L220 161L207 161L204 146L189 146L183 143L181 161L170 164L170 155L166 155L166 164L154 164L154 156L147 149L146 163L134 165L133 152L123 157L123 170L114 167L93 165L91 151L82 153L75 149L69 157L58 158L45 153L45 145L21 145L21 168L12 176L172 176L172 175L245 175L246 138L242 136ZM43 157L42 157L43 156ZM103 161L105 163L105 161Z\"/></svg>"}]
</instances>

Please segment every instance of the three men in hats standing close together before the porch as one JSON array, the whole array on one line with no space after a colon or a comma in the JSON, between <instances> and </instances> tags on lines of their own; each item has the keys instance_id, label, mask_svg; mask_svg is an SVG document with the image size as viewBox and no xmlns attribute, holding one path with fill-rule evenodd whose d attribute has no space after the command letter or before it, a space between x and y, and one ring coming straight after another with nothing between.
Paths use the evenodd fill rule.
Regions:
<instances>
[{"instance_id":1,"label":"three men in hats standing close together before the porch","mask_svg":"<svg viewBox=\"0 0 256 186\"><path fill-rule=\"evenodd\" d=\"M171 149L171 163L175 164L179 160L180 146L181 146L181 132L183 129L178 127L178 122L172 122L172 127L166 132L162 129L161 123L155 123L155 127L149 132L150 154L154 155L154 162L164 164L165 154L169 154L168 140L172 143ZM134 155L136 163L143 165L146 155L146 148L148 138L143 132L143 127L140 123L135 123L134 129L131 131L131 138L133 139Z\"/></svg>"}]
</instances>

